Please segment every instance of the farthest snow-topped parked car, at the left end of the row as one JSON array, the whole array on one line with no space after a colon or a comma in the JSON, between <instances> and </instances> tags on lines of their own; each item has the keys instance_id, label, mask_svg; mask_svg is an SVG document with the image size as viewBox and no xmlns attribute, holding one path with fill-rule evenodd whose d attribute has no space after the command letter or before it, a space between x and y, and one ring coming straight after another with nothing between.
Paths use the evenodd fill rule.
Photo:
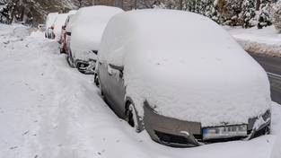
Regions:
<instances>
[{"instance_id":1,"label":"farthest snow-topped parked car, at the left end of the row","mask_svg":"<svg viewBox=\"0 0 281 158\"><path fill-rule=\"evenodd\" d=\"M47 39L55 39L54 34L54 22L57 19L58 13L48 13L46 19L46 31L45 31L45 38Z\"/></svg>"}]
</instances>

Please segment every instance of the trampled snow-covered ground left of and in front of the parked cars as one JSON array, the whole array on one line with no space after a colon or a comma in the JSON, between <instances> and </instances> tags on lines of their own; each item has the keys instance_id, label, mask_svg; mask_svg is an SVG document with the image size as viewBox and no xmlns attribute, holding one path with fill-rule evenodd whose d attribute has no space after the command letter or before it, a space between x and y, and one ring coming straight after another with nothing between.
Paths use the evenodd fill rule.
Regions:
<instances>
[{"instance_id":1,"label":"trampled snow-covered ground left of and in front of the parked cars","mask_svg":"<svg viewBox=\"0 0 281 158\"><path fill-rule=\"evenodd\" d=\"M67 66L56 41L30 32L0 25L1 158L270 157L281 131L276 103L272 135L195 148L158 145L107 107L92 76ZM275 154L280 150L276 146Z\"/></svg>"}]
</instances>

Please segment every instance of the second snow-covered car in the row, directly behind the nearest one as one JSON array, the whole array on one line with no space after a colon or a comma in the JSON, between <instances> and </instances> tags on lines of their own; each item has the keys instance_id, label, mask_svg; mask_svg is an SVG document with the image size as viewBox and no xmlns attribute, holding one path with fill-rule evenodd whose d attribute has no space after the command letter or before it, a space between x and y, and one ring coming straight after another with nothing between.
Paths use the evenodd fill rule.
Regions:
<instances>
[{"instance_id":1,"label":"second snow-covered car in the row, directly behind the nearest one","mask_svg":"<svg viewBox=\"0 0 281 158\"><path fill-rule=\"evenodd\" d=\"M71 35L70 49L66 57L70 66L85 74L92 74L95 68L102 33L110 18L123 10L110 6L83 7L75 13L67 34Z\"/></svg>"}]
</instances>

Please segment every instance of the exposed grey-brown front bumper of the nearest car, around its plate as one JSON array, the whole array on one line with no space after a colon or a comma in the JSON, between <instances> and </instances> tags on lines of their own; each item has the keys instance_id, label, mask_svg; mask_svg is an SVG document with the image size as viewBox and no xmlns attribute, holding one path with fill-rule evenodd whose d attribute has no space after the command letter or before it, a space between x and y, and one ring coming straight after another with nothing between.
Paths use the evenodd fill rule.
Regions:
<instances>
[{"instance_id":1,"label":"exposed grey-brown front bumper of the nearest car, around its plate","mask_svg":"<svg viewBox=\"0 0 281 158\"><path fill-rule=\"evenodd\" d=\"M183 121L158 115L150 108L147 102L145 102L144 110L145 129L149 136L157 143L173 147L192 147L213 142L248 140L270 132L270 110L259 118L249 119L247 136L229 136L207 140L203 138L203 128L205 127L201 127L199 122ZM257 125L260 118L266 121Z\"/></svg>"}]
</instances>

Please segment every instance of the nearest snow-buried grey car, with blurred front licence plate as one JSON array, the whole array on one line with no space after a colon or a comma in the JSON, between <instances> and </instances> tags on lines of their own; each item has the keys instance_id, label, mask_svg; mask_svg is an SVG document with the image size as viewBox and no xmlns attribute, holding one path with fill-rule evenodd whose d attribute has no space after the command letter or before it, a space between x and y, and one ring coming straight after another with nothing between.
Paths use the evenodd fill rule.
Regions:
<instances>
[{"instance_id":1,"label":"nearest snow-buried grey car, with blurred front licence plate","mask_svg":"<svg viewBox=\"0 0 281 158\"><path fill-rule=\"evenodd\" d=\"M264 69L210 19L137 10L114 16L98 55L101 94L158 143L197 146L270 132Z\"/></svg>"}]
</instances>

